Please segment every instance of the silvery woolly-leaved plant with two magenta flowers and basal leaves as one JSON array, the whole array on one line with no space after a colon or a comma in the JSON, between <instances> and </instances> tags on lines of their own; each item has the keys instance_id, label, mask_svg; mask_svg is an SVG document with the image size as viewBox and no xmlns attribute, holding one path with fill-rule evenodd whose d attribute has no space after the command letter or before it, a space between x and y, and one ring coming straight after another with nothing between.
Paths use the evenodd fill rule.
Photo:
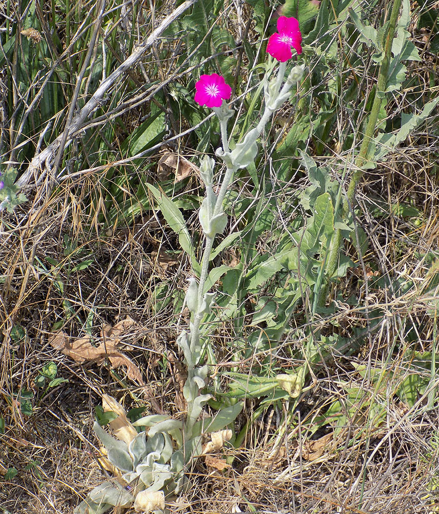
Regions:
<instances>
[{"instance_id":1,"label":"silvery woolly-leaved plant with two magenta flowers and basal leaves","mask_svg":"<svg viewBox=\"0 0 439 514\"><path fill-rule=\"evenodd\" d=\"M290 99L292 86L303 75L302 65L293 67L288 75L286 73L286 63L292 58L291 48L297 53L302 51L297 20L282 16L277 28L278 33L270 37L267 51L279 65L273 77L273 63L267 66L268 71L263 79L264 112L258 124L244 135L233 150L228 145L227 122L234 116L234 111L226 102L232 96L232 88L216 73L201 75L195 86L195 101L212 108L219 119L222 146L217 149L216 156L225 163L226 171L221 180L215 183L215 160L208 156L201 159L200 177L206 191L198 214L204 234L201 272L199 277L188 280L185 302L191 314L190 324L189 329L177 337L187 369L183 387L187 404L185 419L156 414L130 424L125 413L120 411L119 417L111 422L120 427L123 420L126 428L124 436L113 430L119 440L95 423L94 431L106 448L104 454L109 467L113 467L119 481L107 481L95 487L75 509L75 514L98 514L117 505L133 506L138 512L163 514L166 501L190 487L186 471L193 465L194 459L207 451L219 449L232 437L232 431L225 428L241 412L242 403L226 407L212 418L200 419L205 403L211 398L211 395L203 394L208 367L203 363L200 333L203 318L211 313L215 300L215 293L206 290L206 279L215 236L221 234L227 225L225 194L233 174L254 162L258 153L257 141L265 125L273 113ZM195 256L190 255L190 258L194 259ZM208 334L203 333L203 337L207 338ZM114 402L109 408L112 412L120 409ZM111 423L110 427L113 428ZM206 443L207 434L210 434L211 442Z\"/></svg>"}]
</instances>

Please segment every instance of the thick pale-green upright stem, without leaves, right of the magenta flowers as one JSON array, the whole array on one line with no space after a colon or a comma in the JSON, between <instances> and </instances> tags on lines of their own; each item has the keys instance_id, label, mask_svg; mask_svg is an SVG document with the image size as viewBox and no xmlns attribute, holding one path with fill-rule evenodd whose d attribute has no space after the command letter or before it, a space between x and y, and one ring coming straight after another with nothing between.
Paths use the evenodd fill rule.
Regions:
<instances>
[{"instance_id":1,"label":"thick pale-green upright stem, without leaves, right of the magenta flowers","mask_svg":"<svg viewBox=\"0 0 439 514\"><path fill-rule=\"evenodd\" d=\"M373 135L375 133L376 123L378 121L379 109L381 106L381 101L383 100L383 97L386 94L385 91L386 91L387 76L388 76L388 72L389 72L390 57L391 57L391 52L392 52L392 44L393 44L393 38L395 36L396 21L398 19L399 9L401 7L401 1L402 0L394 0L394 2L393 2L392 12L390 14L390 20L389 20L389 30L387 32L387 38L386 38L386 43L385 43L385 47L384 47L384 59L383 59L383 61L381 61L381 65L379 67L379 72L378 72L378 80L377 80L376 89L375 89L375 98L373 100L372 108L370 111L369 120L368 120L368 124L366 127L366 132L365 132L364 138L361 142L360 151L355 160L355 171L352 174L351 180L349 182L348 192L347 192L347 202L343 206L343 214L345 216L349 212L349 204L352 204L352 202L354 200L356 186L362 177L362 174L363 174L362 166L364 166L364 164L366 163L366 161L369 157L369 146L370 146L370 142L372 141ZM335 269L337 267L338 252L340 250L340 246L341 246L341 231L335 230L335 232L332 235L331 243L329 246L328 261L327 261L327 266L326 266L327 283L326 283L326 286L321 289L320 295L319 295L318 303L320 306L325 305L325 302L326 302L326 299L328 296L329 281L330 281L330 278L333 276Z\"/></svg>"}]
</instances>

